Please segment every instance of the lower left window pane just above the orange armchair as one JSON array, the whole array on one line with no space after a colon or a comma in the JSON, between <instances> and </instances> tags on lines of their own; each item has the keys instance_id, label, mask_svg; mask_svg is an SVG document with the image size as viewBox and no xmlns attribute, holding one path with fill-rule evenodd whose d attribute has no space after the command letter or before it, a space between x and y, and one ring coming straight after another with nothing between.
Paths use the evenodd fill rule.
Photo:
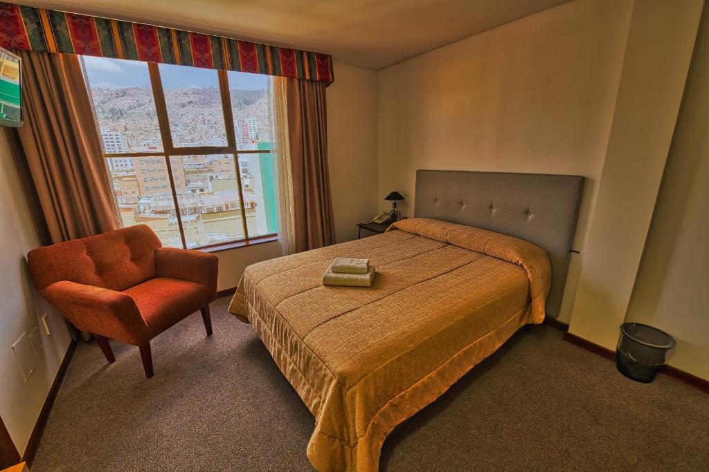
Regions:
<instances>
[{"instance_id":1,"label":"lower left window pane just above the orange armchair","mask_svg":"<svg viewBox=\"0 0 709 472\"><path fill-rule=\"evenodd\" d=\"M113 157L106 166L123 226L147 224L164 246L182 248L165 158ZM184 189L184 174L173 169L173 175Z\"/></svg>"}]
</instances>

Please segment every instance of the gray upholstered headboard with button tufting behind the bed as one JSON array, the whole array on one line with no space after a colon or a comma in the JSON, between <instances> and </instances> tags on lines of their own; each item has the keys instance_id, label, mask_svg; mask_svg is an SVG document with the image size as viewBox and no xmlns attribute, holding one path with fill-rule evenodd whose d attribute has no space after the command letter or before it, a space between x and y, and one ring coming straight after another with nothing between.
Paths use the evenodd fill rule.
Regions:
<instances>
[{"instance_id":1,"label":"gray upholstered headboard with button tufting behind the bed","mask_svg":"<svg viewBox=\"0 0 709 472\"><path fill-rule=\"evenodd\" d=\"M415 217L515 236L549 253L547 316L562 304L584 178L580 175L417 171Z\"/></svg>"}]
</instances>

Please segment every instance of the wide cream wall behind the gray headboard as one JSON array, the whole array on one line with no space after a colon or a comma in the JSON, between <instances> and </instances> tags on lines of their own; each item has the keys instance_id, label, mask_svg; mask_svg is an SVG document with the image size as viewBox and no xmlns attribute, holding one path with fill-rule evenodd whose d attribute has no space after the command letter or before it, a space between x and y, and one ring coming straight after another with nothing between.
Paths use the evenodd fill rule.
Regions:
<instances>
[{"instance_id":1,"label":"wide cream wall behind the gray headboard","mask_svg":"<svg viewBox=\"0 0 709 472\"><path fill-rule=\"evenodd\" d=\"M631 12L576 0L382 70L379 193L402 192L411 217L420 168L584 175L583 255ZM574 256L562 321L580 270Z\"/></svg>"}]
</instances>

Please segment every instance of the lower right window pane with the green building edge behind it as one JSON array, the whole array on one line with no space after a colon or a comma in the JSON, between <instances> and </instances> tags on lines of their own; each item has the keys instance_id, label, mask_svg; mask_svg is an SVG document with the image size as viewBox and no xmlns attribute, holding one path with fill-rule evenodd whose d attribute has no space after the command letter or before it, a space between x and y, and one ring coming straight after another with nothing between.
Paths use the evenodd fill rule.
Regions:
<instances>
[{"instance_id":1,"label":"lower right window pane with the green building edge behind it","mask_svg":"<svg viewBox=\"0 0 709 472\"><path fill-rule=\"evenodd\" d=\"M240 154L239 169L249 237L278 233L276 153Z\"/></svg>"}]
</instances>

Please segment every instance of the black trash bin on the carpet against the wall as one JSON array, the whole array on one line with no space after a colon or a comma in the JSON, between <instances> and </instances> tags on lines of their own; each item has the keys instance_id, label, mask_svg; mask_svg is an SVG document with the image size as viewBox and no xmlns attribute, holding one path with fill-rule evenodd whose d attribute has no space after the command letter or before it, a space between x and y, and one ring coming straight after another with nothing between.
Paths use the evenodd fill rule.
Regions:
<instances>
[{"instance_id":1,"label":"black trash bin on the carpet against the wall","mask_svg":"<svg viewBox=\"0 0 709 472\"><path fill-rule=\"evenodd\" d=\"M674 346L674 338L662 330L642 323L623 323L615 350L615 367L629 379L649 384L657 369L665 364L667 351Z\"/></svg>"}]
</instances>

